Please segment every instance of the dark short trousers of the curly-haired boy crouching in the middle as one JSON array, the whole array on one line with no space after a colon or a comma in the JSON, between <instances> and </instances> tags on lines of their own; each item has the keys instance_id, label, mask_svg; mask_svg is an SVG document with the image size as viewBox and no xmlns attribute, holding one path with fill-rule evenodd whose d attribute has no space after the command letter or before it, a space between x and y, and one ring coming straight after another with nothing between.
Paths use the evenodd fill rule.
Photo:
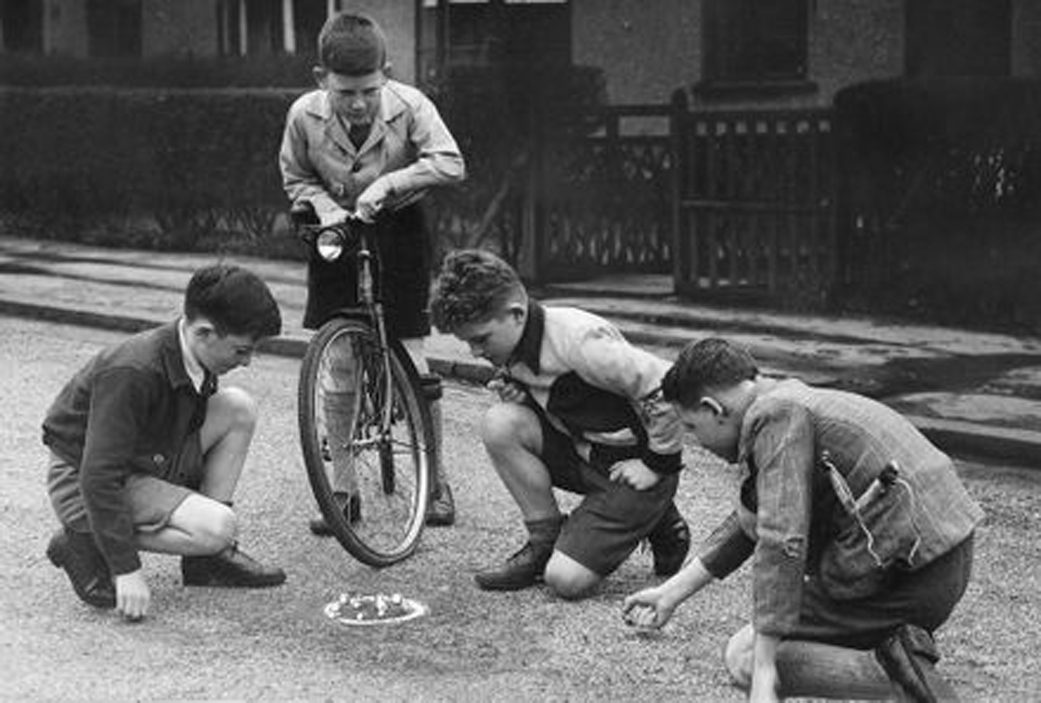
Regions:
<instances>
[{"instance_id":1,"label":"dark short trousers of the curly-haired boy crouching in the middle","mask_svg":"<svg viewBox=\"0 0 1041 703\"><path fill-rule=\"evenodd\" d=\"M610 465L593 466L579 456L574 441L535 409L542 430L541 458L553 485L585 496L564 521L555 549L600 576L629 558L668 509L679 474L662 476L646 491L612 481Z\"/></svg>"}]
</instances>

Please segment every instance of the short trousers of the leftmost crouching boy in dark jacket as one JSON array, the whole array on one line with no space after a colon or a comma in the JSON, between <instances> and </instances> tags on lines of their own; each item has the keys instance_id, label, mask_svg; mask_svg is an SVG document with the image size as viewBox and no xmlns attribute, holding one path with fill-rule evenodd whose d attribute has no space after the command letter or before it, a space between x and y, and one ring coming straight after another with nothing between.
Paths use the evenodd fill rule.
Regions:
<instances>
[{"instance_id":1,"label":"short trousers of the leftmost crouching boy in dark jacket","mask_svg":"<svg viewBox=\"0 0 1041 703\"><path fill-rule=\"evenodd\" d=\"M195 433L173 457L166 478L138 472L128 475L123 493L134 529L157 532L166 527L174 510L202 483L202 448L199 434ZM47 472L47 493L62 526L76 532L91 531L79 469L53 452Z\"/></svg>"}]
</instances>

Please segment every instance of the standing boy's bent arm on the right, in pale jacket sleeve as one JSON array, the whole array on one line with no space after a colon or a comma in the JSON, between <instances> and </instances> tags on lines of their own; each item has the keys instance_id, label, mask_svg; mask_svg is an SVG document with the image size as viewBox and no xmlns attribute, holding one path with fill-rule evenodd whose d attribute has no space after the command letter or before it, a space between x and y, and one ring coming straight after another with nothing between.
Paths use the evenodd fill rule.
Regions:
<instances>
[{"instance_id":1,"label":"standing boy's bent arm on the right, in pale jacket sleeve","mask_svg":"<svg viewBox=\"0 0 1041 703\"><path fill-rule=\"evenodd\" d=\"M418 94L418 99L410 108L412 119L409 121L408 139L415 149L416 158L405 168L377 179L383 181L399 204L432 185L456 183L466 177L459 146L433 101Z\"/></svg>"}]
</instances>

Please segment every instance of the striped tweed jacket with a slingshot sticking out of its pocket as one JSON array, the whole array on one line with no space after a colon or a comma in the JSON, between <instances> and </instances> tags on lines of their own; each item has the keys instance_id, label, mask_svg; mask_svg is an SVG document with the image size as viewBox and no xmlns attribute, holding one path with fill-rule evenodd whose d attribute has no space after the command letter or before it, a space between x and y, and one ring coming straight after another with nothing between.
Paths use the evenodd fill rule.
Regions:
<instances>
[{"instance_id":1,"label":"striped tweed jacket with a slingshot sticking out of its pocket","mask_svg":"<svg viewBox=\"0 0 1041 703\"><path fill-rule=\"evenodd\" d=\"M831 581L856 588L874 572L933 561L983 519L950 458L907 419L862 396L778 382L748 408L738 446L744 474L738 506L700 556L723 578L754 555L754 625L764 634L791 631L804 577L819 575L822 564L835 570ZM878 487L869 488L886 471L898 480L885 500L874 500ZM860 499L859 520L843 506L835 481ZM879 569L854 573L858 553L843 550L864 530L875 537L868 551Z\"/></svg>"}]
</instances>

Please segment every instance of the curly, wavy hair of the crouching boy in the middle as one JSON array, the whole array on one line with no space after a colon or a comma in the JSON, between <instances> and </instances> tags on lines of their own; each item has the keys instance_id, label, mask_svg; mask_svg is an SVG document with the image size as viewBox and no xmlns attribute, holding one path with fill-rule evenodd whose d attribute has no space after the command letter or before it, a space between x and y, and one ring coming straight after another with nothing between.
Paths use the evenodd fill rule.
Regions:
<instances>
[{"instance_id":1,"label":"curly, wavy hair of the crouching boy in the middle","mask_svg":"<svg viewBox=\"0 0 1041 703\"><path fill-rule=\"evenodd\" d=\"M452 333L462 325L484 322L501 313L513 299L527 295L509 263L489 251L450 252L434 281L430 313L434 326Z\"/></svg>"}]
</instances>

